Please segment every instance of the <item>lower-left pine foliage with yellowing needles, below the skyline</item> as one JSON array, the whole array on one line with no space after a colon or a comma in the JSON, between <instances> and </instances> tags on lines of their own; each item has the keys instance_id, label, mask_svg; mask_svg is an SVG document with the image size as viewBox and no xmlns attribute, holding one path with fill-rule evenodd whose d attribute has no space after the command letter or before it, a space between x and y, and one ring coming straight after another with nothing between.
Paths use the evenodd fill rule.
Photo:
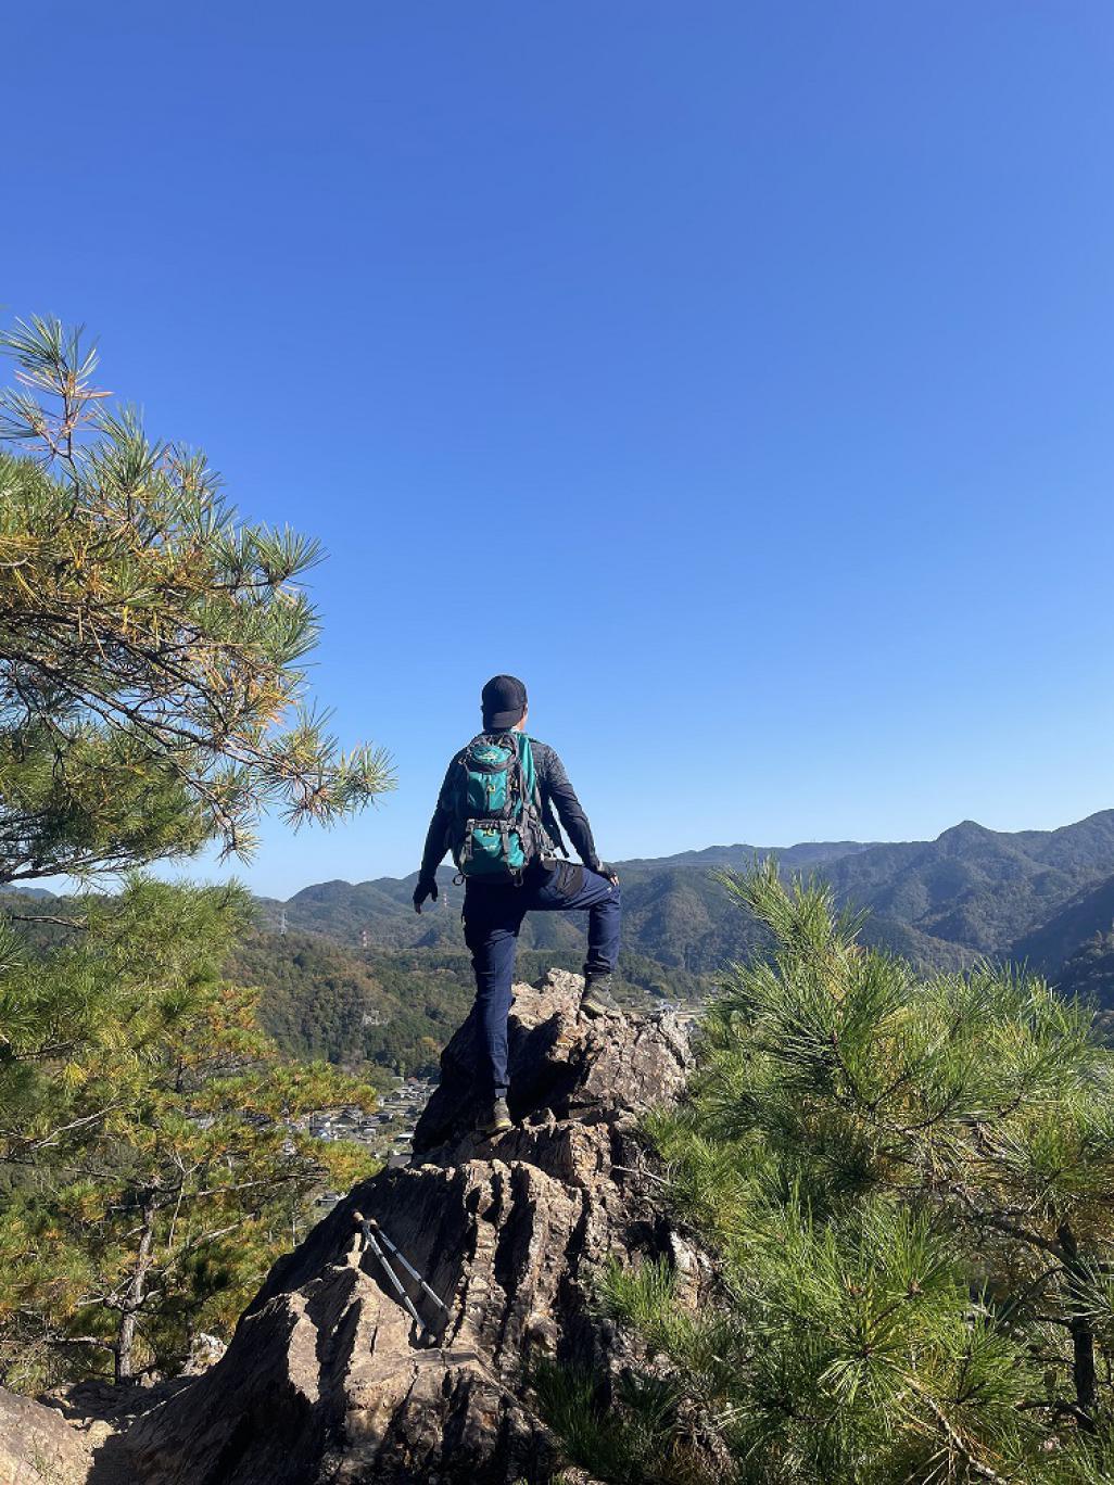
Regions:
<instances>
[{"instance_id":1,"label":"lower-left pine foliage with yellowing needles, below the skyline","mask_svg":"<svg viewBox=\"0 0 1114 1485\"><path fill-rule=\"evenodd\" d=\"M257 993L220 977L250 898L135 879L0 979L0 1362L33 1388L174 1369L227 1335L324 1182L370 1173L294 1126L374 1105L282 1062Z\"/></svg>"}]
</instances>

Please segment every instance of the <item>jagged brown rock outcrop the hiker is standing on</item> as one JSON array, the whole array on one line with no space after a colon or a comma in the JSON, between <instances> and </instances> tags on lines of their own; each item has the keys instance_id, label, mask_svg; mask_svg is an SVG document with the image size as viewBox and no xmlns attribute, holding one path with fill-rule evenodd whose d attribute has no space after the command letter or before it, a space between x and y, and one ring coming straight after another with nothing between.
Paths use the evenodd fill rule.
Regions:
<instances>
[{"instance_id":1,"label":"jagged brown rock outcrop the hiker is standing on","mask_svg":"<svg viewBox=\"0 0 1114 1485\"><path fill-rule=\"evenodd\" d=\"M137 1485L553 1476L551 1440L523 1400L530 1360L615 1365L610 1328L588 1305L609 1256L671 1252L691 1268L634 1138L637 1114L680 1091L686 1037L670 1016L591 1022L579 990L561 971L515 986L518 1127L504 1136L471 1132L471 1029L457 1032L413 1163L342 1201L275 1265L226 1356L117 1440ZM414 1323L359 1250L356 1210L447 1313L407 1280ZM97 1464L89 1481L100 1485Z\"/></svg>"}]
</instances>

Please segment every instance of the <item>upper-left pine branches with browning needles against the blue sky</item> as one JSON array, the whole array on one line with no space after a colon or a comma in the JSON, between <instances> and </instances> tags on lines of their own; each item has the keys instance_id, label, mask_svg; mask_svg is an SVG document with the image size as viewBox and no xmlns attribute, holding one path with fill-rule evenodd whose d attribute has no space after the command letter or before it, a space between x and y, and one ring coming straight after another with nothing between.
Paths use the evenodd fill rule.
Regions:
<instances>
[{"instance_id":1,"label":"upper-left pine branches with browning needles against the blue sky","mask_svg":"<svg viewBox=\"0 0 1114 1485\"><path fill-rule=\"evenodd\" d=\"M239 523L202 454L113 410L79 331L0 349L0 881L244 855L264 808L330 821L389 789L304 707L316 545Z\"/></svg>"}]
</instances>

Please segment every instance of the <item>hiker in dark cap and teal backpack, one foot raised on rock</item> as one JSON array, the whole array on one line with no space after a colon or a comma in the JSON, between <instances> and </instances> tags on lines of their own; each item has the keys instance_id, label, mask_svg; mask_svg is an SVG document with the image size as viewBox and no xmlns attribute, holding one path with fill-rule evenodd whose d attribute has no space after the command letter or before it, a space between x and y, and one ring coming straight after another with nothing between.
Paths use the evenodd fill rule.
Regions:
<instances>
[{"instance_id":1,"label":"hiker in dark cap and teal backpack, one foot raised on rock","mask_svg":"<svg viewBox=\"0 0 1114 1485\"><path fill-rule=\"evenodd\" d=\"M616 873L596 855L588 818L551 747L527 737L526 686L495 676L481 693L483 732L449 765L422 854L414 909L437 901L437 867L446 851L465 881L465 943L475 970L474 1023L486 1108L478 1130L511 1129L506 1108L506 1016L514 953L527 912L588 912L588 956L581 1010L621 1014L612 995L619 952ZM554 815L556 809L556 815ZM557 815L581 858L569 855Z\"/></svg>"}]
</instances>

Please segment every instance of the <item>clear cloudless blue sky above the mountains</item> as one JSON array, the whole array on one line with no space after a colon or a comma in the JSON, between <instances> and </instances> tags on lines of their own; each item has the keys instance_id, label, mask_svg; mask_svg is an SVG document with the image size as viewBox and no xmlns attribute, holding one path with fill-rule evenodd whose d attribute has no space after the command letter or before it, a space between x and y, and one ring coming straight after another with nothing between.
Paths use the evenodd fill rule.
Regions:
<instances>
[{"instance_id":1,"label":"clear cloudless blue sky above the mountains","mask_svg":"<svg viewBox=\"0 0 1114 1485\"><path fill-rule=\"evenodd\" d=\"M1114 803L1107 0L4 16L0 304L319 535L417 864L495 671L605 855Z\"/></svg>"}]
</instances>

